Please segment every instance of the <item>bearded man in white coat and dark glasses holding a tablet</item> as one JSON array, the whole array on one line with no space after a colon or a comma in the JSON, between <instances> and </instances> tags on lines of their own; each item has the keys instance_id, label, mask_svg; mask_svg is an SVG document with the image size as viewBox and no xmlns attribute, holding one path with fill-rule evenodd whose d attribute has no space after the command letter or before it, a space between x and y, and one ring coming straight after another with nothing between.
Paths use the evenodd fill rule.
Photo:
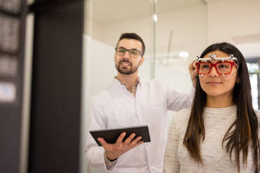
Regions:
<instances>
[{"instance_id":1,"label":"bearded man in white coat and dark glasses holding a tablet","mask_svg":"<svg viewBox=\"0 0 260 173\"><path fill-rule=\"evenodd\" d=\"M178 93L156 80L145 82L138 77L138 67L143 64L145 44L136 33L123 33L115 48L117 76L112 84L91 98L89 130L148 125L151 142L141 142L141 137L125 133L115 144L99 137L97 146L91 135L87 136L87 162L108 172L162 172L167 140L167 110L178 111L192 104L192 96ZM191 70L192 80L195 79Z\"/></svg>"}]
</instances>

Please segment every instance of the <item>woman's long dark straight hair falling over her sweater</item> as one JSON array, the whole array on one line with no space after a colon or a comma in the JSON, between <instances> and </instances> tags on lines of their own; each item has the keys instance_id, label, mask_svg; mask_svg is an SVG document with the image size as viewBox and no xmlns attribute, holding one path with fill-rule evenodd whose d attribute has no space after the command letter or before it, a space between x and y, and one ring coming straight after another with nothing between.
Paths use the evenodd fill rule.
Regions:
<instances>
[{"instance_id":1,"label":"woman's long dark straight hair falling over her sweater","mask_svg":"<svg viewBox=\"0 0 260 173\"><path fill-rule=\"evenodd\" d=\"M255 166L254 172L260 172L259 123L252 107L250 78L245 58L235 46L229 43L210 45L204 50L201 57L205 57L205 54L215 50L225 52L226 54L233 54L238 59L239 64L237 77L240 82L236 82L233 89L233 103L237 105L236 121L231 124L226 135L224 135L222 147L224 142L226 142L225 149L229 153L230 160L232 151L234 151L238 172L240 172L240 151L243 153L243 164L245 165L247 163L248 149L252 147ZM200 143L205 139L203 111L206 105L206 96L207 93L201 89L201 84L197 77L194 101L183 144L187 147L192 159L202 165Z\"/></svg>"}]
</instances>

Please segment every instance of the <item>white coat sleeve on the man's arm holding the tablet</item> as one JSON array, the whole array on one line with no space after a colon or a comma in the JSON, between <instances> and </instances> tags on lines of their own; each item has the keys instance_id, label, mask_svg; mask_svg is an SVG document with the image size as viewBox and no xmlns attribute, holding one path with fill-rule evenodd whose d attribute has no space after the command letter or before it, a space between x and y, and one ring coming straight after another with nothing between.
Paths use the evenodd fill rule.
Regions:
<instances>
[{"instance_id":1,"label":"white coat sleeve on the man's arm holding the tablet","mask_svg":"<svg viewBox=\"0 0 260 173\"><path fill-rule=\"evenodd\" d=\"M98 146L90 135L89 130L105 129L106 116L103 114L103 109L99 103L91 99L89 103L89 110L87 113L87 144L86 155L87 164L92 167L99 167L103 170L110 172L115 167L117 162L113 162L114 165L109 170L107 169L106 160L104 158L105 149L102 146ZM108 160L109 161L109 160Z\"/></svg>"}]
</instances>

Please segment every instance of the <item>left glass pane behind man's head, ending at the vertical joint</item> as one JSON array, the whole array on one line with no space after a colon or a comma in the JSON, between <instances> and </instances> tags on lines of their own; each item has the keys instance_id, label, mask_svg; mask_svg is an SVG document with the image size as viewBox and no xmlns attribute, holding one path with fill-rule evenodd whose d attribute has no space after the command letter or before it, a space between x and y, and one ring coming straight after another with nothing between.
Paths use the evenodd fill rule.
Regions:
<instances>
[{"instance_id":1,"label":"left glass pane behind man's head, ending at the vertical joint","mask_svg":"<svg viewBox=\"0 0 260 173\"><path fill-rule=\"evenodd\" d=\"M151 79L152 7L153 1L150 0L85 1L83 105L88 105L89 98L105 89L117 75L114 54L117 40L122 33L138 33L143 38L145 63L139 68L139 75L145 80ZM83 115L87 114L87 106L82 107L82 112ZM83 116L83 121L87 121L86 116ZM83 126L84 133L87 133L86 128ZM87 170L88 173L103 173L103 170L85 165L84 133L81 172Z\"/></svg>"}]
</instances>

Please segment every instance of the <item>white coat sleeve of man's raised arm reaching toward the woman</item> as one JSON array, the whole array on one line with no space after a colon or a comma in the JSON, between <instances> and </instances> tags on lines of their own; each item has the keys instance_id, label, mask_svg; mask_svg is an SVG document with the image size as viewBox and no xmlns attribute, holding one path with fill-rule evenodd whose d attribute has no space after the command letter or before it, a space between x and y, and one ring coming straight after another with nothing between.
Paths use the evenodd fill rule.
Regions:
<instances>
[{"instance_id":1,"label":"white coat sleeve of man's raised arm reaching toward the woman","mask_svg":"<svg viewBox=\"0 0 260 173\"><path fill-rule=\"evenodd\" d=\"M167 108L168 110L179 111L192 106L195 89L192 87L192 93L180 93L175 89L167 87Z\"/></svg>"}]
</instances>

